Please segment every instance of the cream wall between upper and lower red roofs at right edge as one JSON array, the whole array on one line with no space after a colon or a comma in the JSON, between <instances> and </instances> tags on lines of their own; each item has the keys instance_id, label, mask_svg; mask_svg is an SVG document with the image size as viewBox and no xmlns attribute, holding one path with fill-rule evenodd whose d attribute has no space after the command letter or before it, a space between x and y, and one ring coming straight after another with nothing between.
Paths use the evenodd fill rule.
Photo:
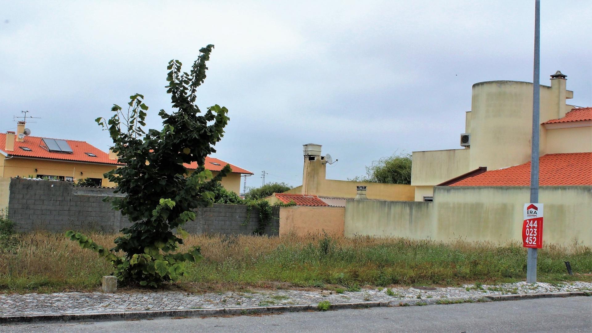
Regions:
<instances>
[{"instance_id":1,"label":"cream wall between upper and lower red roofs at right edge","mask_svg":"<svg viewBox=\"0 0 592 333\"><path fill-rule=\"evenodd\" d=\"M546 130L546 153L592 152L592 126Z\"/></svg>"}]
</instances>

